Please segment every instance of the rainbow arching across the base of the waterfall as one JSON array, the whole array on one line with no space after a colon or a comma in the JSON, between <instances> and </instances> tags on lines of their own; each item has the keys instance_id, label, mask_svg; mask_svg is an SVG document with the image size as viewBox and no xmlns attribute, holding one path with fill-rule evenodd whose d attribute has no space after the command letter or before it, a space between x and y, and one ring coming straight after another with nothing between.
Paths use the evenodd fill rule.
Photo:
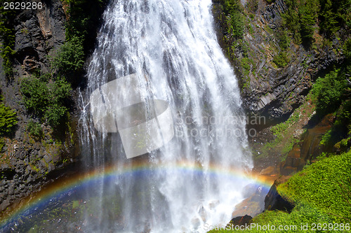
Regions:
<instances>
[{"instance_id":1,"label":"rainbow arching across the base of the waterfall","mask_svg":"<svg viewBox=\"0 0 351 233\"><path fill-rule=\"evenodd\" d=\"M89 185L94 181L100 181L106 178L114 178L121 176L131 176L133 174L144 174L150 171L166 172L175 171L184 174L196 173L204 174L204 168L199 164L194 164L193 162L179 161L176 164L160 164L153 165L150 167L150 162L143 162L143 160L136 160L131 164L126 164L123 167L110 166L103 167L100 169L95 169L84 174L77 174L69 178L65 178L63 181L49 185L48 188L39 192L34 197L30 197L22 204L18 209L8 213L7 216L2 216L0 218L0 230L6 227L10 223L14 223L21 216L27 216L32 211L35 211L39 206L45 206L55 197L60 197L62 195L67 195L67 193L76 188L82 187L84 185ZM211 164L206 169L206 174L210 176L224 176L225 178L235 178L242 181L247 181L247 183L254 183L260 185L263 188L269 189L273 183L272 178L267 178L267 176L259 176L257 174L248 174L243 171L236 169L230 169L227 167L220 166L220 164Z\"/></svg>"}]
</instances>

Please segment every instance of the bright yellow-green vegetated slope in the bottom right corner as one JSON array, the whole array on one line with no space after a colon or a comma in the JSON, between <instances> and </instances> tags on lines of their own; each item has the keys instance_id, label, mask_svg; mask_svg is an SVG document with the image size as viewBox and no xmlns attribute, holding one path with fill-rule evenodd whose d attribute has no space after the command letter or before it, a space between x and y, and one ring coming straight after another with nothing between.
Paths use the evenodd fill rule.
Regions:
<instances>
[{"instance_id":1,"label":"bright yellow-green vegetated slope in the bottom right corner","mask_svg":"<svg viewBox=\"0 0 351 233\"><path fill-rule=\"evenodd\" d=\"M293 175L277 190L295 204L291 213L284 211L265 211L251 220L256 225L296 226L296 229L279 232L306 232L303 225L319 223L332 230L331 224L338 223L341 231L351 228L351 153L331 155L311 164L303 171ZM330 227L330 228L328 228ZM317 225L316 225L317 230ZM213 230L211 232L236 232ZM241 231L242 232L242 231ZM251 229L244 232L272 232L269 230ZM274 232L274 231L273 231Z\"/></svg>"}]
</instances>

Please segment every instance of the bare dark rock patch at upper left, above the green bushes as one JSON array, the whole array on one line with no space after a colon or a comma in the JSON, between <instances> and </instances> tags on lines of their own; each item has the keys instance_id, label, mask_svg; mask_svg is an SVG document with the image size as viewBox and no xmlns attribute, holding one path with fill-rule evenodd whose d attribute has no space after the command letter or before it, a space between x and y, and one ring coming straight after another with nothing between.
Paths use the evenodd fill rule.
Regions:
<instances>
[{"instance_id":1,"label":"bare dark rock patch at upper left, above the green bushes","mask_svg":"<svg viewBox=\"0 0 351 233\"><path fill-rule=\"evenodd\" d=\"M41 10L24 10L15 18L15 57L24 72L48 72L48 55L65 42L65 13L60 1L46 1ZM18 69L21 71L21 69Z\"/></svg>"}]
</instances>

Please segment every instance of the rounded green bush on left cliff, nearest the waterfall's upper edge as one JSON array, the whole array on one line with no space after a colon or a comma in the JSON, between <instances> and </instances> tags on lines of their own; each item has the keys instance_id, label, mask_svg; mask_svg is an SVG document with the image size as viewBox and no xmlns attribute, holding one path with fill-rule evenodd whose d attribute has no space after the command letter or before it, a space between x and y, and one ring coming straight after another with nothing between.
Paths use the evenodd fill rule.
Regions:
<instances>
[{"instance_id":1,"label":"rounded green bush on left cliff, nearest the waterfall's upper edge","mask_svg":"<svg viewBox=\"0 0 351 233\"><path fill-rule=\"evenodd\" d=\"M84 48L82 41L82 38L73 36L58 50L58 54L53 57L52 61L52 65L58 73L77 73L83 69Z\"/></svg>"}]
</instances>

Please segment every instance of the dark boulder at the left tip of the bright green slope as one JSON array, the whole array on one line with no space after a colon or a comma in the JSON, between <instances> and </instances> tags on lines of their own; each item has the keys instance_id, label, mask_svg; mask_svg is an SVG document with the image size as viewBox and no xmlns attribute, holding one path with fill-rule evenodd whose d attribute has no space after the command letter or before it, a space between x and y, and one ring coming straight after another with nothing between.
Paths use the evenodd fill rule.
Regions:
<instances>
[{"instance_id":1,"label":"dark boulder at the left tip of the bright green slope","mask_svg":"<svg viewBox=\"0 0 351 233\"><path fill-rule=\"evenodd\" d=\"M270 191L267 193L267 196L265 197L265 210L291 212L291 210L293 209L293 204L288 202L286 199L284 199L284 197L279 195L279 193L277 192L277 186L287 181L288 178L289 176L283 176L282 178L279 178L277 181L274 181L272 187L270 188Z\"/></svg>"}]
</instances>

